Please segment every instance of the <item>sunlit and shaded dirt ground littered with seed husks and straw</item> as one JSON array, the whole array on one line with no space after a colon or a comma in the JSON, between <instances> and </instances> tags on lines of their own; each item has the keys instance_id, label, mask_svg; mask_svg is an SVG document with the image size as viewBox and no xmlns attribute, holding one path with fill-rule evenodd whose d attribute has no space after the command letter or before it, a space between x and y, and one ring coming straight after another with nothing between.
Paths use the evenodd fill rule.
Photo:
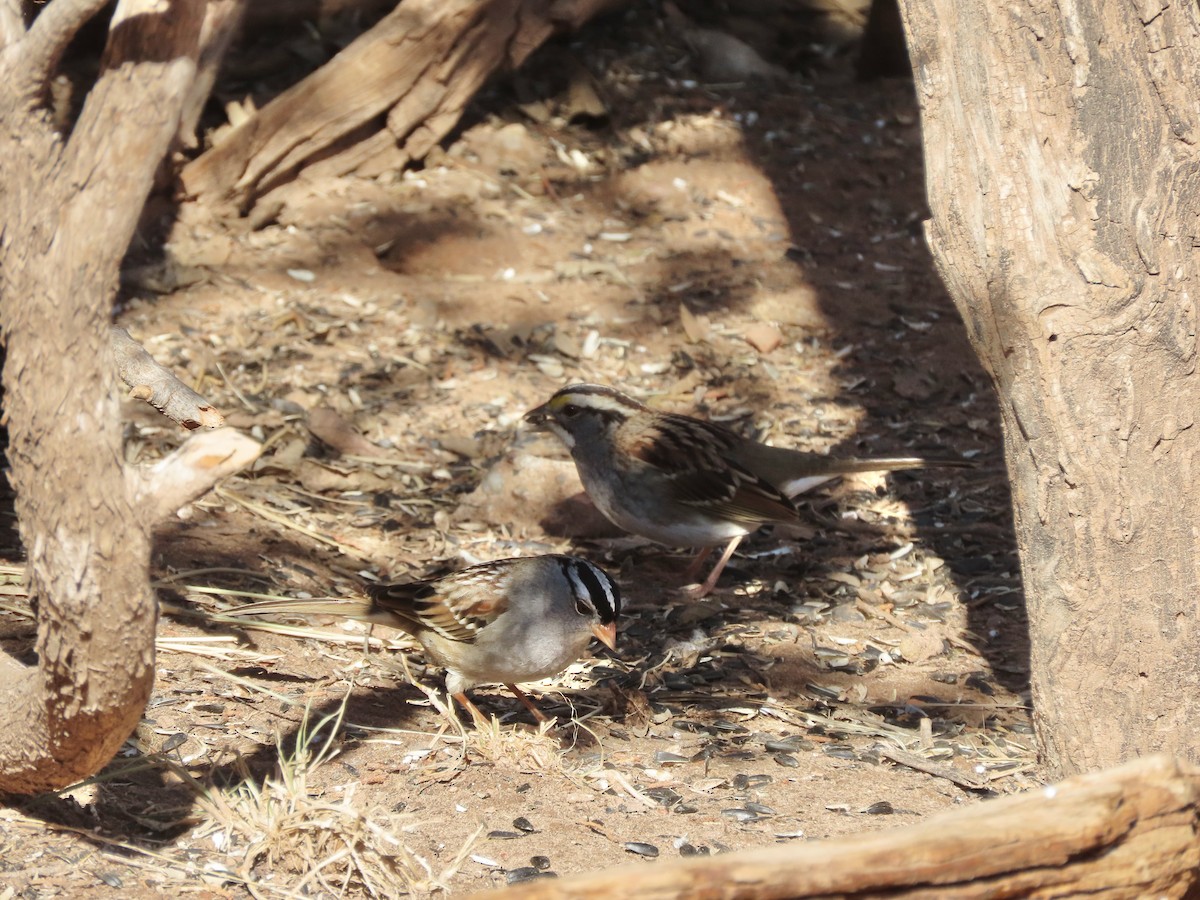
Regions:
<instances>
[{"instance_id":1,"label":"sunlit and shaded dirt ground littered with seed husks and straw","mask_svg":"<svg viewBox=\"0 0 1200 900\"><path fill-rule=\"evenodd\" d=\"M786 78L713 85L647 6L497 83L422 170L302 180L265 224L179 210L118 320L265 449L161 533L143 726L94 782L0 809L0 899L467 893L1039 784L996 401L922 238L912 84L778 36ZM614 533L521 427L578 380L977 466L818 491L686 601L686 551ZM184 438L128 414L131 460ZM205 618L545 552L628 606L617 654L534 686L548 731L499 688L493 728L449 722L398 632ZM28 653L28 606L0 608Z\"/></svg>"}]
</instances>

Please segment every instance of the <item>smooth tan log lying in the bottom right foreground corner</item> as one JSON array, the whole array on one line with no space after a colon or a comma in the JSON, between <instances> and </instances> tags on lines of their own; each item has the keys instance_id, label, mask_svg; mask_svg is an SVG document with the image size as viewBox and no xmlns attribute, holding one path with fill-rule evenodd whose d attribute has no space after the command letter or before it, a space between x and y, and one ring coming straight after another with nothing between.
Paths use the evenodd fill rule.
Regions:
<instances>
[{"instance_id":1,"label":"smooth tan log lying in the bottom right foreground corner","mask_svg":"<svg viewBox=\"0 0 1200 900\"><path fill-rule=\"evenodd\" d=\"M1153 756L906 828L640 863L475 896L1192 896L1200 889L1198 800L1200 769Z\"/></svg>"}]
</instances>

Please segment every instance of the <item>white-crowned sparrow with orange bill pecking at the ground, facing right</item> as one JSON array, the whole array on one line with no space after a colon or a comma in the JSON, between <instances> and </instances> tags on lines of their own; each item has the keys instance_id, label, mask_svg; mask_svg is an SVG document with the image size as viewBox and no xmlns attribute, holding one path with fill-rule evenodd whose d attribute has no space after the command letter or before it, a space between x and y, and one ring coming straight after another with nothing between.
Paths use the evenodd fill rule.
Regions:
<instances>
[{"instance_id":1,"label":"white-crowned sparrow with orange bill pecking at the ground, facing right","mask_svg":"<svg viewBox=\"0 0 1200 900\"><path fill-rule=\"evenodd\" d=\"M341 616L407 631L446 672L446 689L476 721L466 691L503 684L538 718L516 686L558 674L593 637L616 649L620 592L586 559L497 559L439 578L367 588L364 600L268 600L227 616Z\"/></svg>"}]
</instances>

